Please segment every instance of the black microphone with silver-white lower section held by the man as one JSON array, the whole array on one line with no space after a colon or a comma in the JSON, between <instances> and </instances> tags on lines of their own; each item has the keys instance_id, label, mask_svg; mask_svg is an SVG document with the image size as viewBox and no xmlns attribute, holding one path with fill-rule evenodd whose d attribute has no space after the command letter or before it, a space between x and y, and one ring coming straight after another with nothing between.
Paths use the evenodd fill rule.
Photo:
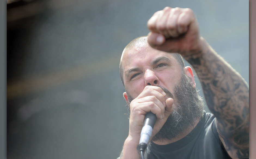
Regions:
<instances>
[{"instance_id":1,"label":"black microphone with silver-white lower section held by the man","mask_svg":"<svg viewBox=\"0 0 256 159\"><path fill-rule=\"evenodd\" d=\"M141 138L139 140L139 151L144 152L144 150L147 148L155 123L156 123L156 114L153 114L152 112L148 112L145 115L144 125L141 130Z\"/></svg>"}]
</instances>

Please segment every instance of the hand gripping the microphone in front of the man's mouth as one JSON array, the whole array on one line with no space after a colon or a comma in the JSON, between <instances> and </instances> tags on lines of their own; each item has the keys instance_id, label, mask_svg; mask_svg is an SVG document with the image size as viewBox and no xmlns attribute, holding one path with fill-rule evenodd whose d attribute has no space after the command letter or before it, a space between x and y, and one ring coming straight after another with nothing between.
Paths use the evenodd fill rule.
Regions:
<instances>
[{"instance_id":1,"label":"hand gripping the microphone in front of the man's mouth","mask_svg":"<svg viewBox=\"0 0 256 159\"><path fill-rule=\"evenodd\" d=\"M173 111L173 99L157 86L146 86L144 90L130 103L129 135L139 137L147 112L156 114L157 121L152 136L161 129Z\"/></svg>"}]
</instances>

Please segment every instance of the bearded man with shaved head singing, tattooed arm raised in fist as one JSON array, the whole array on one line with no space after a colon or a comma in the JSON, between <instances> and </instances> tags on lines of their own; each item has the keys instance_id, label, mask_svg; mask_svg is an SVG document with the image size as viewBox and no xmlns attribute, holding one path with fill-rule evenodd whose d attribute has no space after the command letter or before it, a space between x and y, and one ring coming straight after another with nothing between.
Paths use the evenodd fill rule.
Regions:
<instances>
[{"instance_id":1,"label":"bearded man with shaved head singing, tattooed arm raised in fist","mask_svg":"<svg viewBox=\"0 0 256 159\"><path fill-rule=\"evenodd\" d=\"M249 88L199 35L192 10L166 7L148 20L148 37L123 51L120 75L130 107L119 158L140 158L145 114L156 114L145 158L249 158ZM177 54L178 53L178 54ZM213 114L203 111L193 71Z\"/></svg>"}]
</instances>

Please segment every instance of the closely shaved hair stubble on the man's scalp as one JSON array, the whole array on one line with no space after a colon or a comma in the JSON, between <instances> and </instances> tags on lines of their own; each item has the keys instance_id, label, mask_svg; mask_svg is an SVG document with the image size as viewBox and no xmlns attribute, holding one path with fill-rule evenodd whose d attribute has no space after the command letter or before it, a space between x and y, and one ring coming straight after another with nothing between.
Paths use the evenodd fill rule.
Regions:
<instances>
[{"instance_id":1,"label":"closely shaved hair stubble on the man's scalp","mask_svg":"<svg viewBox=\"0 0 256 159\"><path fill-rule=\"evenodd\" d=\"M121 77L121 81L124 85L124 68L123 68L123 64L122 64L122 60L123 60L123 56L124 54L131 50L131 49L136 49L139 50L142 47L150 47L151 46L148 44L148 36L141 36L138 38L133 39L131 42L128 43L128 45L126 45L126 47L124 48L123 52L122 52L122 56L121 56L121 60L120 60L120 65L119 65L119 71L120 71L120 77ZM180 54L178 53L170 53L179 63L179 65L181 66L182 70L185 67L184 61L181 57Z\"/></svg>"}]
</instances>

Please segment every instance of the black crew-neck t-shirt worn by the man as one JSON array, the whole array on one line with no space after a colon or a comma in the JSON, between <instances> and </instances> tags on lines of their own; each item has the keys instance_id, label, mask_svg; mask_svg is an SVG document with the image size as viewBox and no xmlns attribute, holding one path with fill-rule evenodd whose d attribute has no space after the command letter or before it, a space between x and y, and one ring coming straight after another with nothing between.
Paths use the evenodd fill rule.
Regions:
<instances>
[{"instance_id":1,"label":"black crew-neck t-shirt worn by the man","mask_svg":"<svg viewBox=\"0 0 256 159\"><path fill-rule=\"evenodd\" d=\"M184 138L168 145L153 142L147 147L145 159L229 159L217 133L216 118L205 113L197 126Z\"/></svg>"}]
</instances>

